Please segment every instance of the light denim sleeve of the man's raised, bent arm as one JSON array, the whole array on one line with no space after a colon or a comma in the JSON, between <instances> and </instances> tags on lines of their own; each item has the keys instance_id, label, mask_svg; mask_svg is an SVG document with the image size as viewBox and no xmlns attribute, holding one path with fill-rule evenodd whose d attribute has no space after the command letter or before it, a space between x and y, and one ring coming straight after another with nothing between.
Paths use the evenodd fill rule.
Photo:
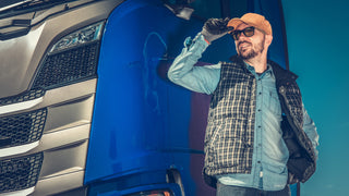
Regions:
<instances>
[{"instance_id":1,"label":"light denim sleeve of the man's raised, bent arm","mask_svg":"<svg viewBox=\"0 0 349 196\"><path fill-rule=\"evenodd\" d=\"M195 66L207 47L208 44L201 34L197 34L194 39L186 38L182 52L174 59L168 71L168 78L190 90L212 94L219 82L220 64Z\"/></svg>"}]
</instances>

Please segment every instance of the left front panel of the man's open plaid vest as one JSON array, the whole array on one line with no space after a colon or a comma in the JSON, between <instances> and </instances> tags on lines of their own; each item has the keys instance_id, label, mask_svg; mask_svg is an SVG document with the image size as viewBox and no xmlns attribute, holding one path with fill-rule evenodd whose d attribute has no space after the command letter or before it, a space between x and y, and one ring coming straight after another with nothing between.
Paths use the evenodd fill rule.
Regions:
<instances>
[{"instance_id":1,"label":"left front panel of the man's open plaid vest","mask_svg":"<svg viewBox=\"0 0 349 196\"><path fill-rule=\"evenodd\" d=\"M251 173L256 84L242 65L221 63L205 134L207 175Z\"/></svg>"}]
</instances>

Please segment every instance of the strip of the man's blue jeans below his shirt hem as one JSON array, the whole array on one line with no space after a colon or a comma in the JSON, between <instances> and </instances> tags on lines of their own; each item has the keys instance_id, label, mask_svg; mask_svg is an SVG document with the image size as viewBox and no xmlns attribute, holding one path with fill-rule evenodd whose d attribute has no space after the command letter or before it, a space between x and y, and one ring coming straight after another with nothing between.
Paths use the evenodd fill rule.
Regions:
<instances>
[{"instance_id":1,"label":"strip of the man's blue jeans below his shirt hem","mask_svg":"<svg viewBox=\"0 0 349 196\"><path fill-rule=\"evenodd\" d=\"M267 192L250 187L229 186L217 183L217 195L216 196L290 196L291 191L287 185L281 191Z\"/></svg>"}]
</instances>

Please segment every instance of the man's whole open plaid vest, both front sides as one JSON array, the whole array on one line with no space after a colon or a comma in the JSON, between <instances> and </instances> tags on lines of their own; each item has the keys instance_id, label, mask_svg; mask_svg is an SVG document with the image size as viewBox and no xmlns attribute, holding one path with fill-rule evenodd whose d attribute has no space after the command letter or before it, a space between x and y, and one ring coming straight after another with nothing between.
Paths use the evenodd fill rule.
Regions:
<instances>
[{"instance_id":1,"label":"man's whole open plaid vest, both front sides","mask_svg":"<svg viewBox=\"0 0 349 196\"><path fill-rule=\"evenodd\" d=\"M276 76L285 120L282 138L290 151L289 183L305 182L315 171L315 154L302 130L302 99L297 76L276 63L268 62ZM255 119L254 75L238 57L231 63L222 62L220 81L210 100L205 134L205 182L216 185L215 175L251 173ZM296 142L294 142L296 140ZM305 150L305 151L304 151ZM292 157L305 155L305 163Z\"/></svg>"}]
</instances>

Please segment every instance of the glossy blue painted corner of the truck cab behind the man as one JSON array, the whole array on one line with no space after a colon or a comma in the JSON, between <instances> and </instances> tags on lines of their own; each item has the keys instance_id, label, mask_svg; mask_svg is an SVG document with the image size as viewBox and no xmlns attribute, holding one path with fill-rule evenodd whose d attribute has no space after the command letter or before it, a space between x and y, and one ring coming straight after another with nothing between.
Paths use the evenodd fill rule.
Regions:
<instances>
[{"instance_id":1,"label":"glossy blue painted corner of the truck cab behind the man","mask_svg":"<svg viewBox=\"0 0 349 196\"><path fill-rule=\"evenodd\" d=\"M184 38L202 25L176 17L160 0L124 1L109 16L85 172L91 195L156 187L179 194L178 185L167 183L167 170L180 172L186 195L214 192L201 176L209 97L171 84L164 61L179 54ZM204 62L227 61L236 53L233 41L226 36L206 53Z\"/></svg>"}]
</instances>

